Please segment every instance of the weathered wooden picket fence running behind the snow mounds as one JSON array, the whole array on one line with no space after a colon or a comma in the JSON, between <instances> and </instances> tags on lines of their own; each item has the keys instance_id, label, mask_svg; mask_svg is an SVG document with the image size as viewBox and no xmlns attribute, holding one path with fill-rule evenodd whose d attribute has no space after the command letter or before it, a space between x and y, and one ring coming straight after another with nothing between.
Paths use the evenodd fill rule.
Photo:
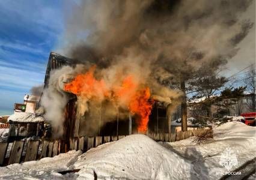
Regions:
<instances>
[{"instance_id":1,"label":"weathered wooden picket fence running behind the snow mounds","mask_svg":"<svg viewBox=\"0 0 256 180\"><path fill-rule=\"evenodd\" d=\"M200 136L207 131L212 130L190 130L185 132L171 134L147 134L156 141L175 142L187 139L191 136ZM94 136L94 137L75 137L70 139L70 147L67 149L67 143L62 140L15 140L11 142L0 142L0 166L6 166L13 163L23 163L25 161L40 160L44 157L54 157L62 152L69 150L81 150L86 152L103 143L122 139L125 136Z\"/></svg>"}]
</instances>

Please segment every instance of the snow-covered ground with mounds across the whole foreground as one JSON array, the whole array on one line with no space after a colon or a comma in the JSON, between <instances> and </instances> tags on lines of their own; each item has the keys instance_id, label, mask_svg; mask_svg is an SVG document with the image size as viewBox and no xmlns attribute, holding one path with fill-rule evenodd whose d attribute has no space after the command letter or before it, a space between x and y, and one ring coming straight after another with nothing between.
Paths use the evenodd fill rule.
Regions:
<instances>
[{"instance_id":1,"label":"snow-covered ground with mounds across the whole foreground","mask_svg":"<svg viewBox=\"0 0 256 180\"><path fill-rule=\"evenodd\" d=\"M154 142L136 134L106 143L82 154L70 151L53 158L0 167L0 179L219 179L219 164L227 148L234 150L236 169L255 157L255 127L228 122L214 129L218 136L202 145L193 138ZM60 171L81 169L61 175Z\"/></svg>"}]
</instances>

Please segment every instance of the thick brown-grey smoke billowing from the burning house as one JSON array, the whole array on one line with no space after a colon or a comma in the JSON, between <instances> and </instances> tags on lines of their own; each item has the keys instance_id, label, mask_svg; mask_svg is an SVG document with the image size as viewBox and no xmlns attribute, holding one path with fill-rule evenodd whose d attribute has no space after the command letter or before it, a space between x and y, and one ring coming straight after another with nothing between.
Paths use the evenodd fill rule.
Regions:
<instances>
[{"instance_id":1,"label":"thick brown-grey smoke billowing from the burning house","mask_svg":"<svg viewBox=\"0 0 256 180\"><path fill-rule=\"evenodd\" d=\"M70 58L96 64L95 78L103 80L106 88L121 85L127 76L132 76L138 87L150 88L152 98L166 104L173 101L176 106L181 93L163 86L165 80L178 83L182 74L189 76L192 70L203 65L216 70L236 55L239 50L236 45L252 27L249 20L239 19L251 2L83 1L67 19L65 41L68 46L63 49ZM51 83L44 94L44 105L49 107L46 116L63 110L67 103L67 95L62 90L56 92L61 73L67 71L67 67L62 68L59 73L55 72L58 76L50 77ZM70 71L73 77L79 74L76 70ZM90 109L90 104L97 104L96 107L103 101L108 101L104 106L109 102L113 104L102 94L82 101L85 101L80 103L82 113ZM118 101L115 106L127 109L122 103ZM109 116L117 114L113 108L109 109L106 113Z\"/></svg>"}]
</instances>

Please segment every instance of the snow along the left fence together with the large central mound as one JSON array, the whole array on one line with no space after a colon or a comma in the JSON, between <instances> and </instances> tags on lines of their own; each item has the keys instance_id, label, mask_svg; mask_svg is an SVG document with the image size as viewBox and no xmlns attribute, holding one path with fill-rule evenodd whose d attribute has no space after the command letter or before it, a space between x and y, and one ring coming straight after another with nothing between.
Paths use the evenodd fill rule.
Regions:
<instances>
[{"instance_id":1,"label":"snow along the left fence together with the large central mound","mask_svg":"<svg viewBox=\"0 0 256 180\"><path fill-rule=\"evenodd\" d=\"M144 135L131 135L90 149L0 167L0 179L189 179L189 161ZM79 157L78 157L79 156ZM73 175L59 171L81 169Z\"/></svg>"}]
</instances>

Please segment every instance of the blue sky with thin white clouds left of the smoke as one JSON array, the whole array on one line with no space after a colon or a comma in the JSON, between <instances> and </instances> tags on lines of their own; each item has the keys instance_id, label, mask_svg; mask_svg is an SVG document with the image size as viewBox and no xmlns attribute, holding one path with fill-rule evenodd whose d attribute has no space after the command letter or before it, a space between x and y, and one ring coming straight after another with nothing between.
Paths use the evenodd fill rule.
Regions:
<instances>
[{"instance_id":1,"label":"blue sky with thin white clouds left of the smoke","mask_svg":"<svg viewBox=\"0 0 256 180\"><path fill-rule=\"evenodd\" d=\"M64 31L64 1L0 1L0 115L44 81ZM66 6L67 7L67 6Z\"/></svg>"}]
</instances>

